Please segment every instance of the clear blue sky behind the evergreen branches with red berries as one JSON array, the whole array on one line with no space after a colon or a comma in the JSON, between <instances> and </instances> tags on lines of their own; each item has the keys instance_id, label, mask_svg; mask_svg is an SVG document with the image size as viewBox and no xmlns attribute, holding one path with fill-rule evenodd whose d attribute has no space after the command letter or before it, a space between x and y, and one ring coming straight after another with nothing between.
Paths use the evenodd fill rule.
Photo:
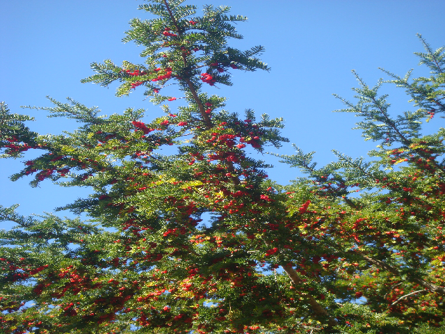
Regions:
<instances>
[{"instance_id":1,"label":"clear blue sky behind the evergreen branches with red berries","mask_svg":"<svg viewBox=\"0 0 445 334\"><path fill-rule=\"evenodd\" d=\"M138 10L142 0L0 0L1 80L0 100L12 113L35 117L27 125L40 134L72 131L79 123L61 118L47 118L47 111L21 109L20 106L51 106L49 95L65 101L71 97L86 106L98 106L103 114L122 113L125 109L147 109L145 120L162 115L159 106L144 100L142 89L129 97L115 97L115 86L103 88L81 84L93 74L90 63L111 59L120 64L127 60L143 63L141 47L124 44L124 31L133 17L151 18ZM403 76L414 68L414 77L428 75L414 51L424 51L416 33L433 49L445 45L442 0L190 0L204 4L230 6L231 13L245 15L248 22L236 25L243 40L231 46L250 49L263 45L261 59L270 72L234 72L232 87L209 89L209 93L228 98L226 110L243 113L254 109L257 115L268 113L283 117L289 138L283 148L271 152L293 154L291 143L305 152L316 151L318 166L335 159L331 150L351 157L366 157L377 143L364 142L350 113L332 113L343 104L332 94L354 101L351 88L357 81L351 70L373 86L379 78L389 79L378 67ZM198 13L200 9L198 10ZM381 93L389 94L394 115L414 110L401 88L387 84ZM179 102L178 104L179 105ZM175 108L175 104L170 104ZM431 122L426 132L443 126ZM0 205L20 204L20 214L54 212L54 208L88 196L88 189L61 188L50 182L31 188L31 178L11 182L9 176L19 171L23 161L35 157L28 152L23 159L0 161ZM268 170L272 180L288 184L300 176L298 169L280 164L268 154L256 159L274 164ZM70 216L67 212L61 216ZM2 225L3 224L3 225ZM8 223L0 223L8 228Z\"/></svg>"}]
</instances>

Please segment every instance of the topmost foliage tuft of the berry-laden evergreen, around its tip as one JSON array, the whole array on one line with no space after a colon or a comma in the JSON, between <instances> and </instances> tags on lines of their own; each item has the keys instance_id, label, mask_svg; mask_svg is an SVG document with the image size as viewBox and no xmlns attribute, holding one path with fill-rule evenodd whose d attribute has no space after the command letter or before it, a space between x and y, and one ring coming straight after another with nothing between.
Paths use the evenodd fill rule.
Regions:
<instances>
[{"instance_id":1,"label":"topmost foliage tuft of the berry-laden evergreen, around its tip","mask_svg":"<svg viewBox=\"0 0 445 334\"><path fill-rule=\"evenodd\" d=\"M145 64L124 62L119 67L109 60L104 64L92 63L92 70L97 74L82 82L108 86L113 81L120 81L117 96L128 95L132 88L143 85L147 88L145 95L153 96L152 102L161 103L171 98L159 95L169 81L177 81L181 89L188 91L189 85L194 89L202 86L201 80L205 78L202 74L212 78L206 81L212 86L215 82L231 86L230 68L269 70L256 57L264 47L252 47L247 51L227 47L227 38L242 38L230 22L247 19L241 15L227 16L227 6L204 6L202 17L191 17L196 13L195 6L179 6L175 2L143 4L139 9L159 18L133 19L130 22L132 29L127 31L123 41L145 46L140 54L145 58Z\"/></svg>"}]
</instances>

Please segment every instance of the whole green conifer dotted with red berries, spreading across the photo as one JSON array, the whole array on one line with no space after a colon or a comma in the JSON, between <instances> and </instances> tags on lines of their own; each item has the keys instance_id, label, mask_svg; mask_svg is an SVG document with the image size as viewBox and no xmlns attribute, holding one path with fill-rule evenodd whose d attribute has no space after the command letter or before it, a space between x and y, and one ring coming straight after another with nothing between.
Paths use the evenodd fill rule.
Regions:
<instances>
[{"instance_id":1,"label":"whole green conifer dotted with red berries, spreading across the photo","mask_svg":"<svg viewBox=\"0 0 445 334\"><path fill-rule=\"evenodd\" d=\"M249 157L280 147L282 119L224 111L206 88L231 85L237 70L268 70L263 47L241 38L229 8L152 0L127 41L145 47L143 64L92 63L83 82L117 95L145 88L164 116L145 110L100 116L70 100L42 108L81 122L76 132L42 136L28 116L1 104L2 157L23 157L17 180L88 186L89 198L60 207L89 221L25 217L0 240L0 327L5 333L439 333L445 325L444 129L423 136L421 121L445 111L444 48L421 38L431 76L385 71L416 111L393 118L383 84L357 74L357 104L345 112L379 143L372 161L336 152L323 168L314 152L283 156L307 177L281 186ZM176 84L181 97L164 92ZM207 86L209 85L209 86ZM176 96L179 96L175 94ZM185 106L172 111L175 100ZM171 103L169 103L171 102ZM161 154L167 145L177 154ZM159 153L157 153L159 152ZM358 194L357 194L358 193ZM210 217L210 218L208 218Z\"/></svg>"}]
</instances>

